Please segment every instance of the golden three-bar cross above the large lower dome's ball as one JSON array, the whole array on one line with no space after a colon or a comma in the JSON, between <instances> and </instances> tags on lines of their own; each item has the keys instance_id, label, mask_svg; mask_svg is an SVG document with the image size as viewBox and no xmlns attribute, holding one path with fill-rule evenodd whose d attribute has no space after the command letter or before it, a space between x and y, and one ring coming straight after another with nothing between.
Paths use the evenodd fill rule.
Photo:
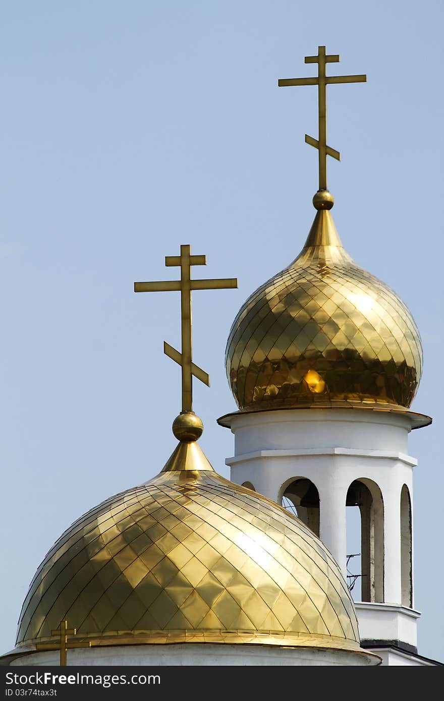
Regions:
<instances>
[{"instance_id":1,"label":"golden three-bar cross above the large lower dome's ball","mask_svg":"<svg viewBox=\"0 0 444 701\"><path fill-rule=\"evenodd\" d=\"M208 374L193 362L191 336L191 290L227 290L237 287L236 278L221 278L219 280L191 280L191 266L206 265L206 256L192 256L191 247L182 245L180 256L166 256L167 267L180 268L180 280L154 283L134 283L134 292L180 292L182 311L182 352L163 341L163 353L182 367L182 413L193 410L192 376L210 386Z\"/></svg>"}]
</instances>

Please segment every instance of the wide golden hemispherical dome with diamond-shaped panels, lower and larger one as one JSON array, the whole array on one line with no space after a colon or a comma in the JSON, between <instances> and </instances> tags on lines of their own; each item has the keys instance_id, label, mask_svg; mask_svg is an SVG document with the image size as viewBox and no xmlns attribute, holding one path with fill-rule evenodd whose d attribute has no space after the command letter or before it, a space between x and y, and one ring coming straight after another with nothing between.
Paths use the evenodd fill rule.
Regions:
<instances>
[{"instance_id":1,"label":"wide golden hemispherical dome with diamond-shaped panels, lower and larger one","mask_svg":"<svg viewBox=\"0 0 444 701\"><path fill-rule=\"evenodd\" d=\"M162 472L91 509L39 566L14 653L60 620L93 646L187 642L363 652L336 562L307 526L180 442Z\"/></svg>"}]
</instances>

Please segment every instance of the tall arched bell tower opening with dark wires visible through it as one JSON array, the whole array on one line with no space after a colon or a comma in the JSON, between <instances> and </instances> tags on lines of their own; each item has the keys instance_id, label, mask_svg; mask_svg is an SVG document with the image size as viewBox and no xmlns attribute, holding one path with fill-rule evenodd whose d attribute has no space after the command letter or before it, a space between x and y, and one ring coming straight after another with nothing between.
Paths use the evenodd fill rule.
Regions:
<instances>
[{"instance_id":1,"label":"tall arched bell tower opening with dark wires visible through it","mask_svg":"<svg viewBox=\"0 0 444 701\"><path fill-rule=\"evenodd\" d=\"M361 601L384 601L384 502L376 482L360 477L347 491L348 507L358 507L361 521L361 572L358 559L349 569L361 579ZM356 519L347 518L347 531L356 530ZM349 533L347 533L349 536ZM352 533L351 536L356 536ZM351 555L355 553L347 553ZM352 580L353 581L353 580Z\"/></svg>"}]
</instances>

